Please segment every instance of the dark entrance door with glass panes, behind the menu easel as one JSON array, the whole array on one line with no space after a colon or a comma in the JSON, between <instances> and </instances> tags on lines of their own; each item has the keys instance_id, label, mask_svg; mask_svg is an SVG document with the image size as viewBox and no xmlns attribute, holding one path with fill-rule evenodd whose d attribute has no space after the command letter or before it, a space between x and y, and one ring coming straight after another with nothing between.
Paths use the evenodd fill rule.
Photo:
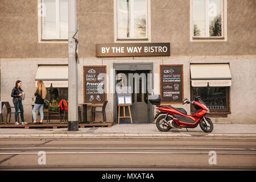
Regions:
<instances>
[{"instance_id":1,"label":"dark entrance door with glass panes, behind the menu easel","mask_svg":"<svg viewBox=\"0 0 256 182\"><path fill-rule=\"evenodd\" d=\"M151 74L150 70L140 71L116 71L119 79L116 85L130 86L133 105L131 105L131 117L134 123L150 123L151 122L151 105L148 102L148 89L151 86ZM118 84L119 82L119 84ZM122 82L122 83L121 83ZM121 108L122 110L122 108ZM126 108L126 115L129 115L129 111ZM118 114L118 107L117 107ZM130 123L129 118L121 118L120 123Z\"/></svg>"}]
</instances>

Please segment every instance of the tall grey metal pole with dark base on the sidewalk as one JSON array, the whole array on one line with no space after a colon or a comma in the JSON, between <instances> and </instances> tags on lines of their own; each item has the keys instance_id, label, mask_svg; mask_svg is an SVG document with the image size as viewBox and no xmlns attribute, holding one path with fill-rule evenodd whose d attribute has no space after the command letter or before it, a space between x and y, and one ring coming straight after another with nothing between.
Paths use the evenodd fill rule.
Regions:
<instances>
[{"instance_id":1,"label":"tall grey metal pole with dark base on the sidewalk","mask_svg":"<svg viewBox=\"0 0 256 182\"><path fill-rule=\"evenodd\" d=\"M78 131L76 0L68 0L68 131Z\"/></svg>"}]
</instances>

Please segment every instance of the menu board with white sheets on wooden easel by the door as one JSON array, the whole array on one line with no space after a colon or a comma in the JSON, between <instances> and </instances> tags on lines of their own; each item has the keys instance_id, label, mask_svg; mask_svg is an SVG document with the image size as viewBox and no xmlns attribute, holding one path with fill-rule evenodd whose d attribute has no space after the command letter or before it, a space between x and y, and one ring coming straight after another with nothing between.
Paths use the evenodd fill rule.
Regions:
<instances>
[{"instance_id":1,"label":"menu board with white sheets on wooden easel by the door","mask_svg":"<svg viewBox=\"0 0 256 182\"><path fill-rule=\"evenodd\" d=\"M132 105L131 86L118 86L117 89L117 105Z\"/></svg>"}]
</instances>

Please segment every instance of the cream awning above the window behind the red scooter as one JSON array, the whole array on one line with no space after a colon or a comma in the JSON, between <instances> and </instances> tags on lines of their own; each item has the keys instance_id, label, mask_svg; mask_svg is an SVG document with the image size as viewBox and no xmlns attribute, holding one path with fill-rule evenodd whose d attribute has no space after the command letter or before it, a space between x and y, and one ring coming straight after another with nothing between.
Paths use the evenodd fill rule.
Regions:
<instances>
[{"instance_id":1,"label":"cream awning above the window behind the red scooter","mask_svg":"<svg viewBox=\"0 0 256 182\"><path fill-rule=\"evenodd\" d=\"M192 86L231 86L229 64L191 64Z\"/></svg>"}]
</instances>

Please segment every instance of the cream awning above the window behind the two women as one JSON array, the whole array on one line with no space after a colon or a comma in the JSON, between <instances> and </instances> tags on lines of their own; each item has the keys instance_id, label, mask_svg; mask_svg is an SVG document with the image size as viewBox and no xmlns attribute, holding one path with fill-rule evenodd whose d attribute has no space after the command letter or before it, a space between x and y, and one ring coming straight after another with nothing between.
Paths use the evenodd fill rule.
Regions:
<instances>
[{"instance_id":1,"label":"cream awning above the window behind the two women","mask_svg":"<svg viewBox=\"0 0 256 182\"><path fill-rule=\"evenodd\" d=\"M39 65L35 85L43 80L46 87L68 87L68 65Z\"/></svg>"}]
</instances>

